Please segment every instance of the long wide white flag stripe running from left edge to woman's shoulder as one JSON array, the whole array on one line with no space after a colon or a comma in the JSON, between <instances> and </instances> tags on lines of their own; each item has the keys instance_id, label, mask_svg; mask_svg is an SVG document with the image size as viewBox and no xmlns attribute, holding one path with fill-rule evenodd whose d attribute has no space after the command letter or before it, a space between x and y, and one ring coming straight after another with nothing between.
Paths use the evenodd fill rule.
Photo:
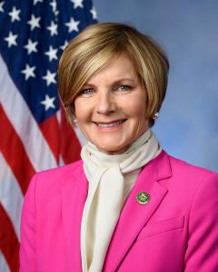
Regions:
<instances>
[{"instance_id":1,"label":"long wide white flag stripe running from left edge to woman's shoulder","mask_svg":"<svg viewBox=\"0 0 218 272\"><path fill-rule=\"evenodd\" d=\"M36 171L56 167L54 155L30 112L23 96L15 87L0 55L0 102L25 146ZM55 131L54 131L55 132Z\"/></svg>"}]
</instances>

